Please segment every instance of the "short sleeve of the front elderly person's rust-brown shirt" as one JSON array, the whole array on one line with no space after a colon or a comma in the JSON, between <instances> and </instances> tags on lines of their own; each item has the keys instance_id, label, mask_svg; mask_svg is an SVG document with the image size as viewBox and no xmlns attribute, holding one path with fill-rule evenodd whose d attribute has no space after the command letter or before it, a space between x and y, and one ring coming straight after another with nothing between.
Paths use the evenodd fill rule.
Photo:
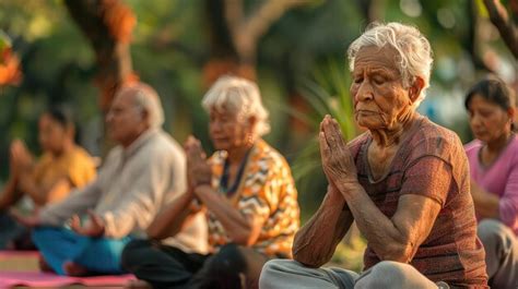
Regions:
<instances>
[{"instance_id":1,"label":"short sleeve of the front elderly person's rust-brown shirt","mask_svg":"<svg viewBox=\"0 0 518 289\"><path fill-rule=\"evenodd\" d=\"M446 204L452 180L451 166L436 156L423 156L407 168L401 195L417 194Z\"/></svg>"}]
</instances>

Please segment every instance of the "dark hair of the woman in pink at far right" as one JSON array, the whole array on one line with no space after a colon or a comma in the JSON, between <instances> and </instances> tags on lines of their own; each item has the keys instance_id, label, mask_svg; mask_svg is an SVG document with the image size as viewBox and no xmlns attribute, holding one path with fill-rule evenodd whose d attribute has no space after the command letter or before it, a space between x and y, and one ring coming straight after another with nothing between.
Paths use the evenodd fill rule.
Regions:
<instances>
[{"instance_id":1,"label":"dark hair of the woman in pink at far right","mask_svg":"<svg viewBox=\"0 0 518 289\"><path fill-rule=\"evenodd\" d=\"M515 107L515 94L513 89L505 84L505 82L494 75L487 76L473 85L466 95L464 107L469 110L469 106L473 96L479 95L485 100L496 104L502 109L507 111ZM516 125L513 120L510 130L516 131Z\"/></svg>"}]
</instances>

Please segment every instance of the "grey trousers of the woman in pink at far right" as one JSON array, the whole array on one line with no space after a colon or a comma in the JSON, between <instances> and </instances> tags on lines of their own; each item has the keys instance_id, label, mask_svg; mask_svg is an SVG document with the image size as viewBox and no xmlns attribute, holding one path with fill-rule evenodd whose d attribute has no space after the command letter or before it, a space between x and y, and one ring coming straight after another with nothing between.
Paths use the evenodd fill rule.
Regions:
<instances>
[{"instance_id":1,"label":"grey trousers of the woman in pink at far right","mask_svg":"<svg viewBox=\"0 0 518 289\"><path fill-rule=\"evenodd\" d=\"M484 219L478 234L485 250L485 263L491 288L518 288L518 238L504 224Z\"/></svg>"}]
</instances>

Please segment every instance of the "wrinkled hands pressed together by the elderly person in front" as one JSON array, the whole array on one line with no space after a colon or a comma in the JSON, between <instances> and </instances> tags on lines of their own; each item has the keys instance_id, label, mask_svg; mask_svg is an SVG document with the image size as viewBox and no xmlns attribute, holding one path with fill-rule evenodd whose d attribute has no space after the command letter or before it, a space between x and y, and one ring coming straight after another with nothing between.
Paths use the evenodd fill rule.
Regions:
<instances>
[{"instance_id":1,"label":"wrinkled hands pressed together by the elderly person in front","mask_svg":"<svg viewBox=\"0 0 518 289\"><path fill-rule=\"evenodd\" d=\"M349 184L357 184L356 166L343 140L337 120L326 116L320 123L320 157L328 181L340 191Z\"/></svg>"}]
</instances>

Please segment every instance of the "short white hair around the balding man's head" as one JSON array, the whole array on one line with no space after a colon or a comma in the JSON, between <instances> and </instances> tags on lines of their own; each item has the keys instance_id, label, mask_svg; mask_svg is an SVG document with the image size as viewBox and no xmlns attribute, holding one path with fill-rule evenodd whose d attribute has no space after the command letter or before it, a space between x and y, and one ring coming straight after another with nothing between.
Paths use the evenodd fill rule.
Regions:
<instances>
[{"instance_id":1,"label":"short white hair around the balding man's head","mask_svg":"<svg viewBox=\"0 0 518 289\"><path fill-rule=\"evenodd\" d=\"M148 112L150 128L161 128L164 124L164 109L156 91L148 84L137 83L123 86L119 95L130 92L133 94L136 108Z\"/></svg>"}]
</instances>

